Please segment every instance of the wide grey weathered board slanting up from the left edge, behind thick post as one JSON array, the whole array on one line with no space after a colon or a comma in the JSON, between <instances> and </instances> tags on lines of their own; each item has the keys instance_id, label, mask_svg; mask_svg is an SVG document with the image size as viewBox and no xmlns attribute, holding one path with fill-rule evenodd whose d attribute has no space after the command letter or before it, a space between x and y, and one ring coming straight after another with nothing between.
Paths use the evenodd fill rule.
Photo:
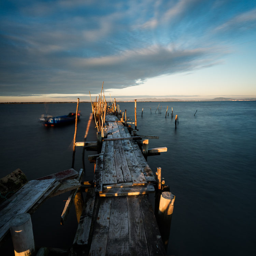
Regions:
<instances>
[{"instance_id":1,"label":"wide grey weathered board slanting up from the left edge, behind thick post","mask_svg":"<svg viewBox=\"0 0 256 256\"><path fill-rule=\"evenodd\" d=\"M10 197L10 201L13 203L9 203L0 211L0 241L9 230L11 219L16 214L29 211L33 204L41 198L55 181L55 179L29 181L16 192L17 200L15 195Z\"/></svg>"}]
</instances>

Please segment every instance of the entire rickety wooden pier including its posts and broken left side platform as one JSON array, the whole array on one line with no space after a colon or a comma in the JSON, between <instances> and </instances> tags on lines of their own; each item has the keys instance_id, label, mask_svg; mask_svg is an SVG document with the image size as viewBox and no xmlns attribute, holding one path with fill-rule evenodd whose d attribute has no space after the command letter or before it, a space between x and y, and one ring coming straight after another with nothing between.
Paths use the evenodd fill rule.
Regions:
<instances>
[{"instance_id":1,"label":"entire rickety wooden pier including its posts and broken left side platform","mask_svg":"<svg viewBox=\"0 0 256 256\"><path fill-rule=\"evenodd\" d=\"M21 201L17 202L15 207L14 204L8 203L2 205L0 240L8 233L12 218L16 217L17 213L31 214L47 198L71 191L61 214L61 224L64 224L67 218L71 202L75 204L79 224L70 250L62 251L62 255L166 255L175 197L170 192L163 192L168 191L164 189L168 186L163 186L161 168L157 168L156 179L146 159L147 156L166 152L167 148L148 149L148 139L158 137L137 134L136 101L134 130L126 122L126 111L125 120L124 113L123 116L121 111L119 113L116 100L108 108L106 101L99 100L98 104L92 104L92 110L98 129L97 141L86 142L86 136L84 142L75 142L74 139L74 148L83 146L84 150L97 151L98 154L88 156L90 162L94 162L93 181L81 182L83 169L79 173L74 169L68 169L29 182L24 180L24 174L20 170L16 170L11 176L17 176L16 172L19 173L19 177L24 180L21 184L23 187L19 190L15 188L15 195L8 201L15 202L16 197L20 199L20 193L23 193L22 200L26 207L20 203ZM118 115L121 120L118 119ZM7 179L9 176L3 178L3 181ZM34 188L34 184L39 188ZM85 200L82 199L82 189L86 192ZM35 194L33 200L30 199L30 194L27 196L27 191L30 190ZM162 200L164 203L158 212L162 192L168 194L165 194ZM148 195L151 193L156 193L155 212ZM161 216L161 220L157 221L155 214ZM160 232L159 225L165 229L164 232ZM32 232L32 228L29 232ZM167 237L161 236L163 233ZM19 241L19 238L16 241ZM20 247L19 242L16 246ZM25 248L23 253L35 252L35 248L27 249ZM42 247L37 255L48 255L49 250L50 248ZM51 250L57 250L59 253L61 251L54 248Z\"/></svg>"}]
</instances>

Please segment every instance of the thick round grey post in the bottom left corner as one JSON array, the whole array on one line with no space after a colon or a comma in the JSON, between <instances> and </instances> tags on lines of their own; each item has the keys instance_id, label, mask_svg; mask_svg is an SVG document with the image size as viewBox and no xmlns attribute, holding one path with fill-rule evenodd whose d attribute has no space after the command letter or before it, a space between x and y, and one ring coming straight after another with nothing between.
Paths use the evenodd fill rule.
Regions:
<instances>
[{"instance_id":1,"label":"thick round grey post in the bottom left corner","mask_svg":"<svg viewBox=\"0 0 256 256\"><path fill-rule=\"evenodd\" d=\"M15 256L30 256L35 253L34 235L29 213L18 214L10 222Z\"/></svg>"}]
</instances>

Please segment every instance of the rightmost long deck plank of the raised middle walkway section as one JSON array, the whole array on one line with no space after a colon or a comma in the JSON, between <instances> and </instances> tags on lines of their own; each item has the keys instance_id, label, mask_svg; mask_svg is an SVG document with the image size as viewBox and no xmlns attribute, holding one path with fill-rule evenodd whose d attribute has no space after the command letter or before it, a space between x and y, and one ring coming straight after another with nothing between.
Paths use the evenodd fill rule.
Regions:
<instances>
[{"instance_id":1,"label":"rightmost long deck plank of the raised middle walkway section","mask_svg":"<svg viewBox=\"0 0 256 256\"><path fill-rule=\"evenodd\" d=\"M143 174L144 174L147 182L156 182L154 173L151 170L151 168L148 166L147 161L145 160L144 156L142 155L138 144L135 141L131 141L131 145L133 147L133 152L136 155L138 163L143 171Z\"/></svg>"}]
</instances>

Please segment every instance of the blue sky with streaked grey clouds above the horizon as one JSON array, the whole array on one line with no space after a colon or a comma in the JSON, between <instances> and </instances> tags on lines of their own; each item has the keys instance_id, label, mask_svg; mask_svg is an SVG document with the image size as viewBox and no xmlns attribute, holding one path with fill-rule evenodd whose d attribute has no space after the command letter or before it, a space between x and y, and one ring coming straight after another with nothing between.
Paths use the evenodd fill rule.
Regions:
<instances>
[{"instance_id":1,"label":"blue sky with streaked grey clouds above the horizon","mask_svg":"<svg viewBox=\"0 0 256 256\"><path fill-rule=\"evenodd\" d=\"M0 102L256 98L255 0L0 0Z\"/></svg>"}]
</instances>

